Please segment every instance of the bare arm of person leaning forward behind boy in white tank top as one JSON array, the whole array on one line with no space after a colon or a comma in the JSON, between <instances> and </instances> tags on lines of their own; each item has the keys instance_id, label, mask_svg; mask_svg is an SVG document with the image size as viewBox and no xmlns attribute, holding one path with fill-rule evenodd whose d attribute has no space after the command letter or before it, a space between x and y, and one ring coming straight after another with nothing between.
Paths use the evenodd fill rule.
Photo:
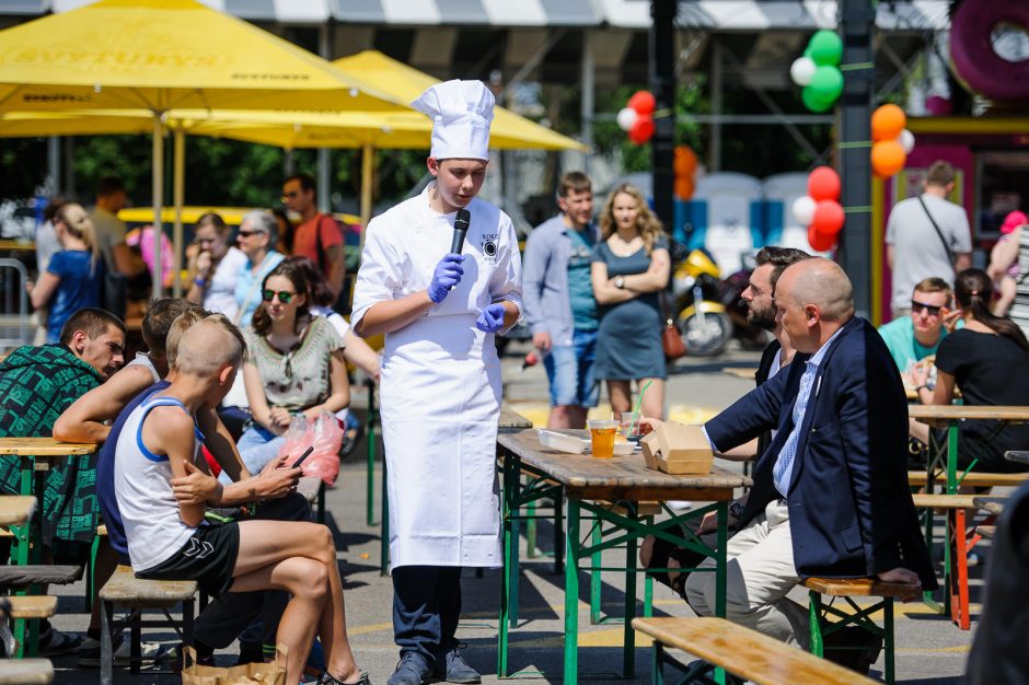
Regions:
<instances>
[{"instance_id":1,"label":"bare arm of person leaning forward behind boy in white tank top","mask_svg":"<svg viewBox=\"0 0 1029 685\"><path fill-rule=\"evenodd\" d=\"M126 367L97 385L65 409L54 423L54 437L61 442L92 442L107 440L112 421L136 395L153 384L153 376L139 365Z\"/></svg>"}]
</instances>

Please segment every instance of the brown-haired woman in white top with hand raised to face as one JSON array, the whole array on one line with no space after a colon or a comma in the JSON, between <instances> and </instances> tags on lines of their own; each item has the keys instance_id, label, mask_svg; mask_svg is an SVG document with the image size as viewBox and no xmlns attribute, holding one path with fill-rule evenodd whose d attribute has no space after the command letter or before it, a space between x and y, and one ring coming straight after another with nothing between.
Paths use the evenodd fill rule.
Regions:
<instances>
[{"instance_id":1,"label":"brown-haired woman in white top with hand raised to face","mask_svg":"<svg viewBox=\"0 0 1029 685\"><path fill-rule=\"evenodd\" d=\"M229 225L220 214L209 211L197 219L186 300L232 320L240 309L235 283L246 264L246 255L230 244L229 233Z\"/></svg>"}]
</instances>

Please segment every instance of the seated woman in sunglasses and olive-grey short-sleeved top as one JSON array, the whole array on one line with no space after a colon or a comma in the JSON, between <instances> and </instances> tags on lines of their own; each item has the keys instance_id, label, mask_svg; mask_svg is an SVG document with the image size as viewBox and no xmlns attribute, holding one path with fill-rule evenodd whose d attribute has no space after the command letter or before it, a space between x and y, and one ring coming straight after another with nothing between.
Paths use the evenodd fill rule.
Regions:
<instances>
[{"instance_id":1,"label":"seated woman in sunglasses and olive-grey short-sleeved top","mask_svg":"<svg viewBox=\"0 0 1029 685\"><path fill-rule=\"evenodd\" d=\"M259 473L286 441L293 416L335 415L350 404L343 339L323 316L312 316L301 268L282 262L265 277L261 306L243 332L243 381L253 425L238 443L251 473Z\"/></svg>"}]
</instances>

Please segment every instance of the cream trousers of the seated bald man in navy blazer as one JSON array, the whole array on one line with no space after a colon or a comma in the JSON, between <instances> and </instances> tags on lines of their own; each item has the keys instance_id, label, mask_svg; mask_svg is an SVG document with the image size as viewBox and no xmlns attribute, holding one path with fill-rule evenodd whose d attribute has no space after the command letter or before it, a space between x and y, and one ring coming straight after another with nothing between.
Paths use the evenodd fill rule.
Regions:
<instances>
[{"instance_id":1,"label":"cream trousers of the seated bald man in navy blazer","mask_svg":"<svg viewBox=\"0 0 1029 685\"><path fill-rule=\"evenodd\" d=\"M726 547L726 618L788 645L808 645L808 611L786 597L799 582L794 566L785 499L772 500L763 514L729 538ZM701 569L714 571L715 559ZM714 616L715 573L694 571L686 601L698 616Z\"/></svg>"}]
</instances>

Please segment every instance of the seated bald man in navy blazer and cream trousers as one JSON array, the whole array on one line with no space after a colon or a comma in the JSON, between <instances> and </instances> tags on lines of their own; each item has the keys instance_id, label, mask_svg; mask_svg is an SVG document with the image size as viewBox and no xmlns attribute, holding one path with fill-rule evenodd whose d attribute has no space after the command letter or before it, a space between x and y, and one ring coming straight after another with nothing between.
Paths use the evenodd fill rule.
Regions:
<instances>
[{"instance_id":1,"label":"seated bald man in navy blazer and cream trousers","mask_svg":"<svg viewBox=\"0 0 1029 685\"><path fill-rule=\"evenodd\" d=\"M727 617L803 645L807 612L786 599L801 579L878 577L915 595L936 577L907 488L903 386L876 329L854 316L849 279L828 259L799 262L775 307L798 363L705 430L724 452L776 429L728 543ZM697 614L714 613L714 573L692 573L685 590Z\"/></svg>"}]
</instances>

